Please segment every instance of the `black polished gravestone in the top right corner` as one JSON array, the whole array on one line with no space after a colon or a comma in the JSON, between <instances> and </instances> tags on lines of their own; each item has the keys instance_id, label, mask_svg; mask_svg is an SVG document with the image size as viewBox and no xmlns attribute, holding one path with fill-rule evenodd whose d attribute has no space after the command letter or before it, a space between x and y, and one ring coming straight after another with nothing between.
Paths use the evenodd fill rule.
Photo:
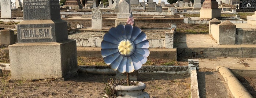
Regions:
<instances>
[{"instance_id":1,"label":"black polished gravestone in the top right corner","mask_svg":"<svg viewBox=\"0 0 256 98\"><path fill-rule=\"evenodd\" d=\"M237 12L254 12L256 11L256 0L240 0Z\"/></svg>"}]
</instances>

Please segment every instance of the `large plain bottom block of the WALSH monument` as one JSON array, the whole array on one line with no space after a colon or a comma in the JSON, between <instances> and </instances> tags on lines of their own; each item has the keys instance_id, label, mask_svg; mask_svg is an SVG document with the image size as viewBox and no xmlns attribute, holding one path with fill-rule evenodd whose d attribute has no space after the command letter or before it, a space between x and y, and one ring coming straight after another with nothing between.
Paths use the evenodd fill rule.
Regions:
<instances>
[{"instance_id":1,"label":"large plain bottom block of the WALSH monument","mask_svg":"<svg viewBox=\"0 0 256 98\"><path fill-rule=\"evenodd\" d=\"M9 46L11 79L71 78L77 74L76 41L18 43Z\"/></svg>"}]
</instances>

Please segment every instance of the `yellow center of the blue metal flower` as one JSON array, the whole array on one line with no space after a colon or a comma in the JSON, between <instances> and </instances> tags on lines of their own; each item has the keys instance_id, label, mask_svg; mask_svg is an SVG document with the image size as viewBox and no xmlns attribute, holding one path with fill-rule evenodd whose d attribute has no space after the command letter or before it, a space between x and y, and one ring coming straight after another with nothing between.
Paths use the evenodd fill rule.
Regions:
<instances>
[{"instance_id":1,"label":"yellow center of the blue metal flower","mask_svg":"<svg viewBox=\"0 0 256 98\"><path fill-rule=\"evenodd\" d=\"M123 39L118 44L119 53L123 56L130 56L134 52L134 44L129 39Z\"/></svg>"}]
</instances>

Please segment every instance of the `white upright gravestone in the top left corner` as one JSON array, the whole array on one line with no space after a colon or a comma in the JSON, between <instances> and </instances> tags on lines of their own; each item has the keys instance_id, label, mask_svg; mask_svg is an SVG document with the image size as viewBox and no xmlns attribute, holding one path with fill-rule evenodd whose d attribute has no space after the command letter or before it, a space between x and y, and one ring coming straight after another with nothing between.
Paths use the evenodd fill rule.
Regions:
<instances>
[{"instance_id":1,"label":"white upright gravestone in the top left corner","mask_svg":"<svg viewBox=\"0 0 256 98\"><path fill-rule=\"evenodd\" d=\"M1 2L1 18L12 18L11 0L0 0Z\"/></svg>"}]
</instances>

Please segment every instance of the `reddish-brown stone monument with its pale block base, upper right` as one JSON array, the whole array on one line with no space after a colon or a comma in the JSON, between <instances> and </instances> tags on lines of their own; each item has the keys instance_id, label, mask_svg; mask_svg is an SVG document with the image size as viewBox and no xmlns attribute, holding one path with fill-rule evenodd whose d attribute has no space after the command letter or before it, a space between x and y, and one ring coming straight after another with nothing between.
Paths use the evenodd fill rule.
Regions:
<instances>
[{"instance_id":1,"label":"reddish-brown stone monument with its pale block base, upper right","mask_svg":"<svg viewBox=\"0 0 256 98\"><path fill-rule=\"evenodd\" d=\"M200 19L213 19L220 17L220 9L216 0L205 0L200 10Z\"/></svg>"}]
</instances>

